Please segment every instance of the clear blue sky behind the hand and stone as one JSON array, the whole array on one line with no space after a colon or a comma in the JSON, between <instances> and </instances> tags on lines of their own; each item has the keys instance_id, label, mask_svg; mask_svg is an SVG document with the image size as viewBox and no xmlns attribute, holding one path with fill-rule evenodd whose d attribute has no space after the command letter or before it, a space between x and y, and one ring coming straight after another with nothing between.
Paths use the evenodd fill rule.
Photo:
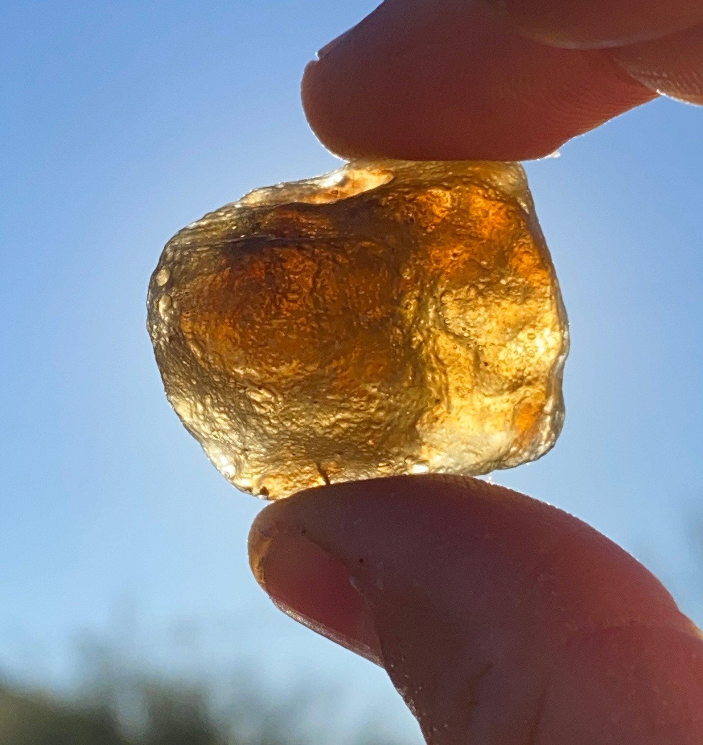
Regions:
<instances>
[{"instance_id":1,"label":"clear blue sky behind the hand and stone","mask_svg":"<svg viewBox=\"0 0 703 745\"><path fill-rule=\"evenodd\" d=\"M2 11L0 668L64 681L77 635L121 630L155 665L185 644L209 671L318 679L415 732L381 671L258 590L245 539L261 503L179 425L144 330L177 229L334 168L299 77L374 4ZM703 110L658 101L527 169L572 325L567 424L494 480L594 524L701 623Z\"/></svg>"}]
</instances>

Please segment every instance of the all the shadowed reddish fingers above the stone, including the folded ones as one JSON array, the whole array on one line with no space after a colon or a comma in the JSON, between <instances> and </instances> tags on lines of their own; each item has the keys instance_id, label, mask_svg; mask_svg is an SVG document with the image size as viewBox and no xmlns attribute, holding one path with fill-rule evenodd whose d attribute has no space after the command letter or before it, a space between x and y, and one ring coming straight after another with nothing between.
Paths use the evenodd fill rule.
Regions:
<instances>
[{"instance_id":1,"label":"all the shadowed reddish fingers above the stone, including the folded ones","mask_svg":"<svg viewBox=\"0 0 703 745\"><path fill-rule=\"evenodd\" d=\"M703 2L387 0L319 57L302 99L334 153L524 160L656 91L703 103Z\"/></svg>"}]
</instances>

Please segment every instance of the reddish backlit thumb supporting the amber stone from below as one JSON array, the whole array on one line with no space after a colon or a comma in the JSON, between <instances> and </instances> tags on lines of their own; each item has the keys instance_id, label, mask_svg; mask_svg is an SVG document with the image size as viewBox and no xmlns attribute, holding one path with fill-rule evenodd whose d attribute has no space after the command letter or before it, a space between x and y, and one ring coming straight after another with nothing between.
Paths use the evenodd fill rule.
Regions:
<instances>
[{"instance_id":1,"label":"reddish backlit thumb supporting the amber stone from below","mask_svg":"<svg viewBox=\"0 0 703 745\"><path fill-rule=\"evenodd\" d=\"M249 538L285 612L383 665L431 744L703 742L703 641L572 516L460 478L301 492Z\"/></svg>"}]
</instances>

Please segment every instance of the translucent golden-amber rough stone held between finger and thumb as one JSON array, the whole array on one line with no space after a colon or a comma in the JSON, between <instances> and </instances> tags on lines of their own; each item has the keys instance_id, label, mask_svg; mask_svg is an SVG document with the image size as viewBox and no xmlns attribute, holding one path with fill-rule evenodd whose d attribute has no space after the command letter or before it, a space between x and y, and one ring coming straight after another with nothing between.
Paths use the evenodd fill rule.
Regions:
<instances>
[{"instance_id":1,"label":"translucent golden-amber rough stone held between finger and thumb","mask_svg":"<svg viewBox=\"0 0 703 745\"><path fill-rule=\"evenodd\" d=\"M509 468L562 428L567 319L515 163L257 189L171 238L148 308L176 413L267 498Z\"/></svg>"}]
</instances>

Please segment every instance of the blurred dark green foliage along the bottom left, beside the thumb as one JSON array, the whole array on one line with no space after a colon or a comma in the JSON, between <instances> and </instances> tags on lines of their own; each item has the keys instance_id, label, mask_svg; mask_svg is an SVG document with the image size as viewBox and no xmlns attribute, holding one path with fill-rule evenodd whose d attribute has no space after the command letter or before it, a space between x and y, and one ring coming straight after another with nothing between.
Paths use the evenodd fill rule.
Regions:
<instances>
[{"instance_id":1,"label":"blurred dark green foliage along the bottom left, beside the thumb","mask_svg":"<svg viewBox=\"0 0 703 745\"><path fill-rule=\"evenodd\" d=\"M68 688L0 670L0 745L410 745L392 736L381 709L350 719L343 685L272 688L259 677L266 671L208 664L197 647L179 664L168 641L159 664L147 653L158 638L145 646L130 614L112 634L83 633Z\"/></svg>"}]
</instances>

